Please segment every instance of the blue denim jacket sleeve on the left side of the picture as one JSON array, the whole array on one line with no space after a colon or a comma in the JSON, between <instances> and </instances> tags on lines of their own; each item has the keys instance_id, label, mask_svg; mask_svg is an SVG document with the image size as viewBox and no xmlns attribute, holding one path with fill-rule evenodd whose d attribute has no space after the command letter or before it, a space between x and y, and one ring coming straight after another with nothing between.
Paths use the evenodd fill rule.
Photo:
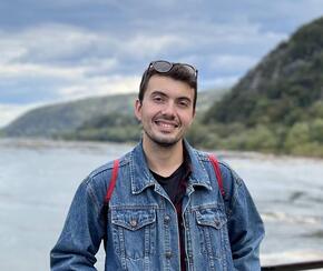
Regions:
<instances>
[{"instance_id":1,"label":"blue denim jacket sleeve on the left side of the picture","mask_svg":"<svg viewBox=\"0 0 323 271\"><path fill-rule=\"evenodd\" d=\"M62 232L50 252L51 271L96 270L96 253L104 237L100 204L86 179L70 205Z\"/></svg>"}]
</instances>

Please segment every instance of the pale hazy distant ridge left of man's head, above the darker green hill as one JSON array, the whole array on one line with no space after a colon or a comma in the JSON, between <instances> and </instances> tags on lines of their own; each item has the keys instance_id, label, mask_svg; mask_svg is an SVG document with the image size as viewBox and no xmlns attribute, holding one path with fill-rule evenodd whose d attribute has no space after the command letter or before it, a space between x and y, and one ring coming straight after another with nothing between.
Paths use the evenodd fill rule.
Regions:
<instances>
[{"instance_id":1,"label":"pale hazy distant ridge left of man's head, above the darker green hill","mask_svg":"<svg viewBox=\"0 0 323 271\"><path fill-rule=\"evenodd\" d=\"M136 94L81 99L28 111L3 129L7 137L56 137L108 113L130 113Z\"/></svg>"}]
</instances>

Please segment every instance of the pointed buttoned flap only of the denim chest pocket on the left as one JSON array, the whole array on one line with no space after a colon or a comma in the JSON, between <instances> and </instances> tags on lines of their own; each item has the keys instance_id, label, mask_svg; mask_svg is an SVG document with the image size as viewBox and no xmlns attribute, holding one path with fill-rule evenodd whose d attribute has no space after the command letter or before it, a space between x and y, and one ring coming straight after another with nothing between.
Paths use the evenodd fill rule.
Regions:
<instances>
[{"instance_id":1,"label":"pointed buttoned flap only of the denim chest pocket on the left","mask_svg":"<svg viewBox=\"0 0 323 271\"><path fill-rule=\"evenodd\" d=\"M154 209L115 209L111 210L111 222L130 231L151 224L156 221Z\"/></svg>"}]
</instances>

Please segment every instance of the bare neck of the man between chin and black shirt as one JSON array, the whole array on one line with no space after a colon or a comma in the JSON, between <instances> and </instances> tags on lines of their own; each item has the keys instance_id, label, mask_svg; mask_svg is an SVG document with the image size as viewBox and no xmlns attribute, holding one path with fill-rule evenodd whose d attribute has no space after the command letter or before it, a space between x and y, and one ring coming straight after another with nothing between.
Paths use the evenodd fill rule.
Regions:
<instances>
[{"instance_id":1,"label":"bare neck of the man between chin and black shirt","mask_svg":"<svg viewBox=\"0 0 323 271\"><path fill-rule=\"evenodd\" d=\"M161 177L169 177L183 163L183 140L164 147L144 137L143 147L149 169Z\"/></svg>"}]
</instances>

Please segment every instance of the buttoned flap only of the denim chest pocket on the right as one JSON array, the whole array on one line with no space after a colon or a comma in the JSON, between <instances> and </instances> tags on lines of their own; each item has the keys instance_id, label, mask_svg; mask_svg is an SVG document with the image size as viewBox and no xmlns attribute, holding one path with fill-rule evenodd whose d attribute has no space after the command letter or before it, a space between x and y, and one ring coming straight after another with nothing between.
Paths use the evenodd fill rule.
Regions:
<instances>
[{"instance_id":1,"label":"buttoned flap only of the denim chest pocket on the right","mask_svg":"<svg viewBox=\"0 0 323 271\"><path fill-rule=\"evenodd\" d=\"M225 213L217 208L203 208L196 210L196 221L200 225L209 225L221 229L226 222Z\"/></svg>"}]
</instances>

